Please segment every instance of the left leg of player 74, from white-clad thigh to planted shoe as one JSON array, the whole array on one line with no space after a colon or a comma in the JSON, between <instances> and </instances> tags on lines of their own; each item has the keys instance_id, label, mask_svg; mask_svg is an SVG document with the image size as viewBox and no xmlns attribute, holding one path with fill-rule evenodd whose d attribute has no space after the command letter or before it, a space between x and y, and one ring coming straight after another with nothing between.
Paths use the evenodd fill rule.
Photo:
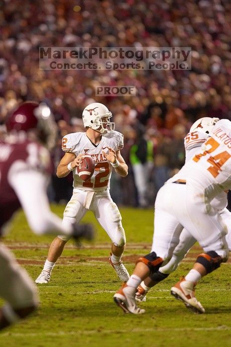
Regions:
<instances>
[{"instance_id":1,"label":"left leg of player 74, from white-clad thigh to planted shoe","mask_svg":"<svg viewBox=\"0 0 231 347\"><path fill-rule=\"evenodd\" d=\"M162 263L166 263L171 258L172 251L179 241L182 226L174 216L166 211L168 202L165 199L165 191L166 188L163 187L156 198L152 251L138 259L130 279L114 295L114 301L125 312L144 313L144 310L137 307L135 302L137 287L147 277L153 279Z\"/></svg>"}]
</instances>

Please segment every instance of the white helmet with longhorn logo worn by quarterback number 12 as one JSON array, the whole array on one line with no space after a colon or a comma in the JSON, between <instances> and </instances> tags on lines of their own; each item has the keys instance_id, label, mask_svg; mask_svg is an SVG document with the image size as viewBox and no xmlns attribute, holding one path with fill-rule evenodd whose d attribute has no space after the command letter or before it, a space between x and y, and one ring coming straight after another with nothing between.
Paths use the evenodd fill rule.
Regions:
<instances>
[{"instance_id":1,"label":"white helmet with longhorn logo worn by quarterback number 12","mask_svg":"<svg viewBox=\"0 0 231 347\"><path fill-rule=\"evenodd\" d=\"M108 131L114 131L115 123L110 121L112 117L108 108L100 103L92 103L87 105L82 112L82 120L84 127L98 130L101 134Z\"/></svg>"}]
</instances>

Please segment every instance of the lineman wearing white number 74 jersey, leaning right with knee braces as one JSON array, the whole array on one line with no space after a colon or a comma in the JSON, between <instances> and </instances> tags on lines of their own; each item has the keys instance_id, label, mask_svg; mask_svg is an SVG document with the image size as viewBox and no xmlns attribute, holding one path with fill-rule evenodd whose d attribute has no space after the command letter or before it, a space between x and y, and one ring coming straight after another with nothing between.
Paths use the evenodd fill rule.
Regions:
<instances>
[{"instance_id":1,"label":"lineman wearing white number 74 jersey, leaning right with knee braces","mask_svg":"<svg viewBox=\"0 0 231 347\"><path fill-rule=\"evenodd\" d=\"M211 201L231 188L231 121L219 120L210 135L201 152L196 152L157 194L152 251L138 259L133 275L114 295L114 301L126 313L145 312L135 303L137 287L147 277L153 282L163 280L158 270L171 258L183 228L200 243L204 253L186 277L171 288L171 294L193 311L205 312L195 297L195 285L229 256L227 226Z\"/></svg>"}]
</instances>

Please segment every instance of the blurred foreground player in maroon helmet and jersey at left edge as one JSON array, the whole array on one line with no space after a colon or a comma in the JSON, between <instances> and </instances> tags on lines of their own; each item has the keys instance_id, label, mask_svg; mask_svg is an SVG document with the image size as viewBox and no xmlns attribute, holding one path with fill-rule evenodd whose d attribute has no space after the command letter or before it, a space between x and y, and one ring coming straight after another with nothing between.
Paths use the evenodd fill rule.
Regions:
<instances>
[{"instance_id":1,"label":"blurred foreground player in maroon helmet and jersey at left edge","mask_svg":"<svg viewBox=\"0 0 231 347\"><path fill-rule=\"evenodd\" d=\"M62 233L92 237L89 225L63 226L53 214L46 194L56 124L45 104L26 102L7 119L8 135L0 140L0 234L20 206L37 234ZM26 317L38 306L37 288L12 253L0 244L0 330Z\"/></svg>"}]
</instances>

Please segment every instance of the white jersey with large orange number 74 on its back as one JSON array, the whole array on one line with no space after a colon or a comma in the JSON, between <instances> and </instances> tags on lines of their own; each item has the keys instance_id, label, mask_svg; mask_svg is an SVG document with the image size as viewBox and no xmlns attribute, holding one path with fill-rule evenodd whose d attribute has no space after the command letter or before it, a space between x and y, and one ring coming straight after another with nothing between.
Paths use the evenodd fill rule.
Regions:
<instances>
[{"instance_id":1,"label":"white jersey with large orange number 74 on its back","mask_svg":"<svg viewBox=\"0 0 231 347\"><path fill-rule=\"evenodd\" d=\"M219 120L210 135L194 157L168 181L186 179L191 185L206 191L211 201L231 188L231 121Z\"/></svg>"}]
</instances>

